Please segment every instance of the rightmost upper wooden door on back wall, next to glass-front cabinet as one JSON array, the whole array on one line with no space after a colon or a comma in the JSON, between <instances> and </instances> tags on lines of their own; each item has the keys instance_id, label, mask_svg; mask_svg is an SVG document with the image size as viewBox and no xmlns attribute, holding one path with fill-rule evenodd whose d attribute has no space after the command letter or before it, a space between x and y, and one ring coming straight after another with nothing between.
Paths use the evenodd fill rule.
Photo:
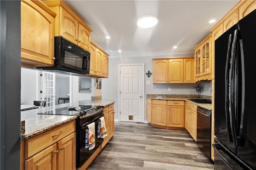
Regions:
<instances>
[{"instance_id":1,"label":"rightmost upper wooden door on back wall, next to glass-front cabinet","mask_svg":"<svg viewBox=\"0 0 256 170\"><path fill-rule=\"evenodd\" d=\"M194 83L194 58L184 59L183 83Z\"/></svg>"}]
</instances>

